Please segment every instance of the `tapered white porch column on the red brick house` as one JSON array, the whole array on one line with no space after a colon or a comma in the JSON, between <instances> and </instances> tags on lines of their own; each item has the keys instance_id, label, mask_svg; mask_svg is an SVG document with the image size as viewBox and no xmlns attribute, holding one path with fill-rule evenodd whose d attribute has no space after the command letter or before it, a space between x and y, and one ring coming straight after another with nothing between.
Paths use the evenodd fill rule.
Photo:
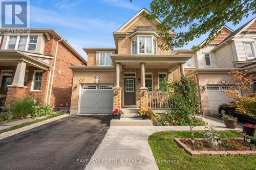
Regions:
<instances>
[{"instance_id":1,"label":"tapered white porch column on the red brick house","mask_svg":"<svg viewBox=\"0 0 256 170\"><path fill-rule=\"evenodd\" d=\"M24 87L26 62L19 61L12 81L12 87Z\"/></svg>"}]
</instances>

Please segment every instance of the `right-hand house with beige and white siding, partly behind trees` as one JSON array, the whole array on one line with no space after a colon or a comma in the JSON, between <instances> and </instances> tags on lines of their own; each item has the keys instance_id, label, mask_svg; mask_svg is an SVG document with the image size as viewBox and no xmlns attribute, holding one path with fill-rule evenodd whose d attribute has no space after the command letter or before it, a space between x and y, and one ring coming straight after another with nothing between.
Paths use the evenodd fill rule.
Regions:
<instances>
[{"instance_id":1,"label":"right-hand house with beige and white siding, partly behind trees","mask_svg":"<svg viewBox=\"0 0 256 170\"><path fill-rule=\"evenodd\" d=\"M255 20L256 17L235 31L223 27L214 40L187 61L186 75L199 83L202 114L218 113L219 105L232 101L223 91L230 88L237 89L236 81L228 72L241 70L256 75ZM184 54L184 52L193 53L189 50L178 50L176 54ZM175 71L174 80L179 78L178 72ZM255 82L253 87L255 89ZM239 91L241 95L247 95L245 90Z\"/></svg>"}]
</instances>

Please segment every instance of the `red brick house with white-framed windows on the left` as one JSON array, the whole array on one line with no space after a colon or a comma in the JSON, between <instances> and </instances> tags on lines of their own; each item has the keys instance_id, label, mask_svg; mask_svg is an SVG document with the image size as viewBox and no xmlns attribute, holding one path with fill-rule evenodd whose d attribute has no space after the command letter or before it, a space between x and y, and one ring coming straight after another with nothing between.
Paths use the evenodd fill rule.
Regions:
<instances>
[{"instance_id":1,"label":"red brick house with white-framed windows on the left","mask_svg":"<svg viewBox=\"0 0 256 170\"><path fill-rule=\"evenodd\" d=\"M73 75L68 66L87 61L53 29L1 36L0 94L6 94L5 105L32 95L59 109L70 107Z\"/></svg>"}]
</instances>

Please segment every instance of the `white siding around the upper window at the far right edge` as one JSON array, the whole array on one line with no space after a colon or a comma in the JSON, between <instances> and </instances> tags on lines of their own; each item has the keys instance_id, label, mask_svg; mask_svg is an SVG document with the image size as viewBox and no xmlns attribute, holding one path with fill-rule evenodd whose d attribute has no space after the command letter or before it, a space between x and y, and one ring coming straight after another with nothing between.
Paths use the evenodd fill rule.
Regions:
<instances>
[{"instance_id":1,"label":"white siding around the upper window at the far right edge","mask_svg":"<svg viewBox=\"0 0 256 170\"><path fill-rule=\"evenodd\" d=\"M248 34L241 33L236 37L234 37L234 42L236 44L236 51L238 54L238 61L248 60L245 53L244 42L252 42L254 44L254 51L255 51L254 38L256 38L256 33L248 33Z\"/></svg>"}]
</instances>

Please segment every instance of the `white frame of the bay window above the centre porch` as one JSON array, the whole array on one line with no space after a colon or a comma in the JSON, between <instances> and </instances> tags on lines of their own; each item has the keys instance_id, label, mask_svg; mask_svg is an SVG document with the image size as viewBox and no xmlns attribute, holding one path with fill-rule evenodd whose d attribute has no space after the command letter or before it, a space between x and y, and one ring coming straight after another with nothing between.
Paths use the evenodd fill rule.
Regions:
<instances>
[{"instance_id":1,"label":"white frame of the bay window above the centre porch","mask_svg":"<svg viewBox=\"0 0 256 170\"><path fill-rule=\"evenodd\" d=\"M144 37L144 52L145 53L140 53L140 42L139 42L139 37ZM146 37L151 37L151 45L152 45L152 53L146 53ZM131 39L131 54L132 55L136 55L136 54L133 54L133 40L134 39L137 39L137 54L140 54L140 55L148 55L148 54L152 54L152 55L155 55L154 52L155 52L155 49L154 49L154 39L156 40L156 47L158 47L157 45L157 38L155 36L148 36L148 35L138 35L136 36L135 38L132 38ZM157 49L157 48L156 48ZM158 50L156 50L156 55L158 54L157 52Z\"/></svg>"}]
</instances>

